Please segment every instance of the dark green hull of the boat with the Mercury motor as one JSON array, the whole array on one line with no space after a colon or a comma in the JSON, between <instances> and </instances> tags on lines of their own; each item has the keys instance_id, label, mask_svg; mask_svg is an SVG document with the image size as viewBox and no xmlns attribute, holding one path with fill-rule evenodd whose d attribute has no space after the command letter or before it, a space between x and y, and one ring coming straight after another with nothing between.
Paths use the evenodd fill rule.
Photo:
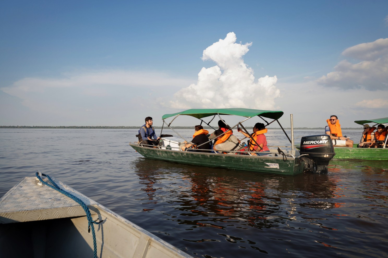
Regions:
<instances>
[{"instance_id":1,"label":"dark green hull of the boat with the Mercury motor","mask_svg":"<svg viewBox=\"0 0 388 258\"><path fill-rule=\"evenodd\" d=\"M214 154L162 150L159 148L143 147L134 143L130 143L129 145L145 158L156 160L281 175L297 175L303 172L303 161L293 157Z\"/></svg>"}]
</instances>

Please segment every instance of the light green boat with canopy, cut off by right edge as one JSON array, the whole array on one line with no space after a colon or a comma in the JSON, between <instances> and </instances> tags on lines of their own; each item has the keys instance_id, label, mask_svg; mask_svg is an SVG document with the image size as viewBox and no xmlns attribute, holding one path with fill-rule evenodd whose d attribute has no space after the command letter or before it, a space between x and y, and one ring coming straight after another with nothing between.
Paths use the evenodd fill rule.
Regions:
<instances>
[{"instance_id":1,"label":"light green boat with canopy, cut off by right edge","mask_svg":"<svg viewBox=\"0 0 388 258\"><path fill-rule=\"evenodd\" d=\"M357 120L354 121L357 124L383 124L388 126L388 117L370 119L370 120ZM387 138L385 138L385 145ZM357 144L353 144L353 148L348 147L334 147L336 153L335 159L363 159L363 160L388 160L388 148L357 148Z\"/></svg>"}]
</instances>

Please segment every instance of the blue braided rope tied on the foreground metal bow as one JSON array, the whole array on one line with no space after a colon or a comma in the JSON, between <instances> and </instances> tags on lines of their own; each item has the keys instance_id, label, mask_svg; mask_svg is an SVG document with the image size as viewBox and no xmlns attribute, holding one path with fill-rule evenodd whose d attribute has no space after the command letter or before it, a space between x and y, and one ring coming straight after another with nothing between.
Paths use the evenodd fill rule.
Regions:
<instances>
[{"instance_id":1,"label":"blue braided rope tied on the foreground metal bow","mask_svg":"<svg viewBox=\"0 0 388 258\"><path fill-rule=\"evenodd\" d=\"M90 228L92 228L94 258L97 258L97 242L96 242L96 234L94 232L94 225L93 224L100 224L102 221L97 222L98 218L96 220L93 220L92 214L90 214L90 210L89 210L88 206L82 200L80 200L80 198L78 198L78 197L74 196L73 194L68 193L68 192L64 191L63 189L61 189L61 187L59 187L57 184L55 184L55 182L51 179L51 177L49 177L49 175L42 174L42 176L47 177L53 185L48 184L47 182L43 181L43 179L39 176L38 172L36 172L36 177L40 180L40 182L42 182L46 186L51 187L54 190L57 190L59 193L62 193L64 195L68 196L69 198L73 199L74 201L76 201L77 203L79 203L81 205L81 207L85 211L86 217L88 219L88 232L89 233L90 233Z\"/></svg>"}]
</instances>

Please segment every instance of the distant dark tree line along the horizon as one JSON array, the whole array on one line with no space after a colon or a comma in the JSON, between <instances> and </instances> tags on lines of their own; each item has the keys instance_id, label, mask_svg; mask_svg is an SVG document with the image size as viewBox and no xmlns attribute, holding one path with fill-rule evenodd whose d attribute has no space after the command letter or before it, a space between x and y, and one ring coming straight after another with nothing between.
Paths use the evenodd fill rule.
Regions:
<instances>
[{"instance_id":1,"label":"distant dark tree line along the horizon","mask_svg":"<svg viewBox=\"0 0 388 258\"><path fill-rule=\"evenodd\" d=\"M7 129L139 129L141 126L0 126L0 128ZM161 129L161 126L154 126L155 129ZM163 127L168 128L168 127ZM194 126L174 126L174 129L194 129ZM210 126L204 126L204 129L211 129ZM214 127L217 129L217 127ZM246 129L252 129L252 127L246 126ZM290 127L283 127L284 129L291 129ZM362 127L344 127L343 130L360 129ZM280 127L270 127L270 129L281 129ZM324 127L294 127L297 130L323 130Z\"/></svg>"}]
</instances>

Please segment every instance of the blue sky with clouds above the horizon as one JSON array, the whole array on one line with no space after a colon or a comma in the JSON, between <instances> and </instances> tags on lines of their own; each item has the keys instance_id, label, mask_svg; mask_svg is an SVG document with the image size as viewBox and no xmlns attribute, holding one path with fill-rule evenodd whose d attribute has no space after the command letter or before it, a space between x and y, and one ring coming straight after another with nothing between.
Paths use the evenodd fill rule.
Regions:
<instances>
[{"instance_id":1,"label":"blue sky with clouds above the horizon","mask_svg":"<svg viewBox=\"0 0 388 258\"><path fill-rule=\"evenodd\" d=\"M296 127L388 117L387 1L14 1L0 14L0 125L161 125L208 107L282 110Z\"/></svg>"}]
</instances>

